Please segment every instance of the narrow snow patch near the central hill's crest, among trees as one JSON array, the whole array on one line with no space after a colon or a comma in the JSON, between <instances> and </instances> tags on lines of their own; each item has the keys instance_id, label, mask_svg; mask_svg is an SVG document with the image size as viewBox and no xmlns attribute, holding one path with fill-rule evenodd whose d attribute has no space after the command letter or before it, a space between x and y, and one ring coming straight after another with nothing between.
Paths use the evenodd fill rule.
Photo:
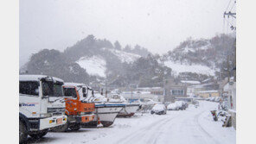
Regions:
<instances>
[{"instance_id":1,"label":"narrow snow patch near the central hill's crest, among trees","mask_svg":"<svg viewBox=\"0 0 256 144\"><path fill-rule=\"evenodd\" d=\"M107 50L111 51L113 54L118 56L118 59L120 59L122 62L132 63L136 59L141 57L138 54L126 53L124 51L119 51L119 50L116 50L116 49L107 49Z\"/></svg>"}]
</instances>

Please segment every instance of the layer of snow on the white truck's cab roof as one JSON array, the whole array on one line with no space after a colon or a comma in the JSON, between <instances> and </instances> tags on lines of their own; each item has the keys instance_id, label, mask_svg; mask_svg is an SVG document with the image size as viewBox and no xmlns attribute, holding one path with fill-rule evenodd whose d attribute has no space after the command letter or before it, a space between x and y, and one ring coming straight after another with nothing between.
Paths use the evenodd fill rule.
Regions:
<instances>
[{"instance_id":1,"label":"layer of snow on the white truck's cab roof","mask_svg":"<svg viewBox=\"0 0 256 144\"><path fill-rule=\"evenodd\" d=\"M50 77L50 76L46 76L46 75L20 75L19 76L19 80L20 81L40 81L40 79L42 78L53 78L55 81L59 81L64 83L64 81L61 78L55 78L55 77Z\"/></svg>"}]
</instances>

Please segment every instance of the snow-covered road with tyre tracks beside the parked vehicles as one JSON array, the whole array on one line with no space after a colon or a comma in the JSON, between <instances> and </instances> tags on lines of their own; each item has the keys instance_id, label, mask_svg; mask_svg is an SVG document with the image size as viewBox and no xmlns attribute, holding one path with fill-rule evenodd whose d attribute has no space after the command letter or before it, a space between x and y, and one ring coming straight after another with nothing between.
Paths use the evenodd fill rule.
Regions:
<instances>
[{"instance_id":1,"label":"snow-covered road with tyre tracks beside the parked vehicles","mask_svg":"<svg viewBox=\"0 0 256 144\"><path fill-rule=\"evenodd\" d=\"M144 114L117 118L110 128L81 128L77 132L48 133L29 143L113 143L113 144L234 144L234 128L222 128L214 122L209 110L217 103L200 102L196 109L168 111L167 115Z\"/></svg>"}]
</instances>

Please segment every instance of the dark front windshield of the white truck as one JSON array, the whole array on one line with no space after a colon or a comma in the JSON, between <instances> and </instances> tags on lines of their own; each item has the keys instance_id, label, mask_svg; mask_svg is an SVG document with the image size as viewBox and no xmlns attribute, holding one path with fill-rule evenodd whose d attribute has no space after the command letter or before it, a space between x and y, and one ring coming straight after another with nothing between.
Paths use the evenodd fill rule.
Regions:
<instances>
[{"instance_id":1,"label":"dark front windshield of the white truck","mask_svg":"<svg viewBox=\"0 0 256 144\"><path fill-rule=\"evenodd\" d=\"M42 95L49 97L63 97L62 84L53 82L42 83Z\"/></svg>"}]
</instances>

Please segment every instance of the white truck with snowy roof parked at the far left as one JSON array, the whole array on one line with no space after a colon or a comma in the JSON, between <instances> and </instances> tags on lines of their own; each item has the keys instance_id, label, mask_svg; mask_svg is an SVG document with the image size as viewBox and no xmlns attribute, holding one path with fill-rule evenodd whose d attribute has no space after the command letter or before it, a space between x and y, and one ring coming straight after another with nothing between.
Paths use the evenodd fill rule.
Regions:
<instances>
[{"instance_id":1,"label":"white truck with snowy roof parked at the far left","mask_svg":"<svg viewBox=\"0 0 256 144\"><path fill-rule=\"evenodd\" d=\"M63 80L44 75L19 77L19 142L41 138L67 122Z\"/></svg>"}]
</instances>

